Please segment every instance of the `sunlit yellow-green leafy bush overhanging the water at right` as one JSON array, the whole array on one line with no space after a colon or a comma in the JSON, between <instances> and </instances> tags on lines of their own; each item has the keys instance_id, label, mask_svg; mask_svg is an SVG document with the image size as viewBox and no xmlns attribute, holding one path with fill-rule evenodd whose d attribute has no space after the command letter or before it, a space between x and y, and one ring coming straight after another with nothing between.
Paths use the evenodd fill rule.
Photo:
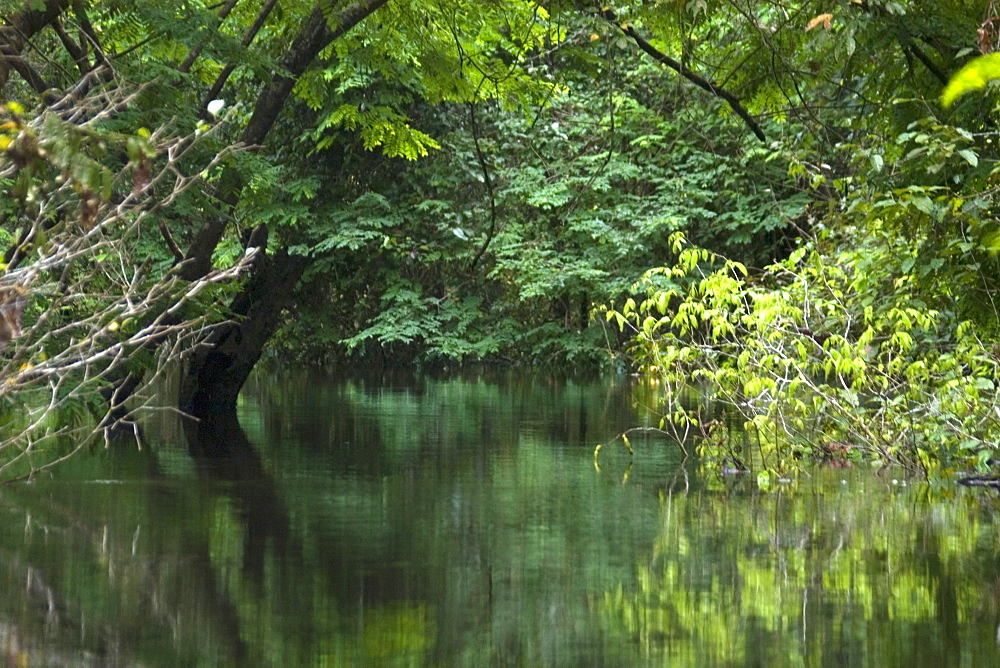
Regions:
<instances>
[{"instance_id":1,"label":"sunlit yellow-green leafy bush overhanging the water at right","mask_svg":"<svg viewBox=\"0 0 1000 668\"><path fill-rule=\"evenodd\" d=\"M772 475L835 451L927 472L985 461L1000 438L997 360L906 275L888 295L858 260L803 248L748 276L684 245L636 285L641 301L606 317L662 380L661 426L699 427L705 455Z\"/></svg>"}]
</instances>

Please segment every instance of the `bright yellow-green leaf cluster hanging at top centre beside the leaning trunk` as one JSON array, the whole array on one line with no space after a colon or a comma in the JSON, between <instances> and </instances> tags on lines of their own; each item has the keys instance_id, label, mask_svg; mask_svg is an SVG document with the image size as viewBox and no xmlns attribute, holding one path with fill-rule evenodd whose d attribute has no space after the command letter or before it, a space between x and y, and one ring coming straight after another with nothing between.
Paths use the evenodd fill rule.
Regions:
<instances>
[{"instance_id":1,"label":"bright yellow-green leaf cluster hanging at top centre beside the leaning trunk","mask_svg":"<svg viewBox=\"0 0 1000 668\"><path fill-rule=\"evenodd\" d=\"M540 104L553 84L529 75L525 60L558 32L548 13L526 0L394 2L336 40L328 66L307 72L296 93L321 114L317 150L338 142L332 131L341 130L360 132L366 150L414 160L439 148L411 127L415 101Z\"/></svg>"}]
</instances>

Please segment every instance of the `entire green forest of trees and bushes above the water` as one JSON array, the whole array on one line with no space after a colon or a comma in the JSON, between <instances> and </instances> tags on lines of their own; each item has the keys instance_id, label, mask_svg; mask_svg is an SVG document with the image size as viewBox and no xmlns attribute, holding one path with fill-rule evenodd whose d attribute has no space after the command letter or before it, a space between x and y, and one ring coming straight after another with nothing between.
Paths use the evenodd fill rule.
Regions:
<instances>
[{"instance_id":1,"label":"entire green forest of trees and bushes above the water","mask_svg":"<svg viewBox=\"0 0 1000 668\"><path fill-rule=\"evenodd\" d=\"M765 486L991 465L993 2L0 9L5 476L262 355L639 369Z\"/></svg>"}]
</instances>

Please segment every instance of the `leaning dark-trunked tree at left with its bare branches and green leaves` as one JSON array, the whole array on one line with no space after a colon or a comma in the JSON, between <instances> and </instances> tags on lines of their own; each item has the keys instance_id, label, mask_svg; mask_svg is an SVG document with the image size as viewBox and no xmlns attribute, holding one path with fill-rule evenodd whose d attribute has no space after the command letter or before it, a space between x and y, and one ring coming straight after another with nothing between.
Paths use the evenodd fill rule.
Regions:
<instances>
[{"instance_id":1,"label":"leaning dark-trunked tree at left with its bare branches and green leaves","mask_svg":"<svg viewBox=\"0 0 1000 668\"><path fill-rule=\"evenodd\" d=\"M27 84L16 90L9 84L9 94L26 103L34 94L42 105L31 112L8 105L3 148L5 174L17 194L7 209L12 287L4 293L16 321L12 336L21 334L21 311L32 296L32 325L11 360L19 371L8 373L8 386L48 384L52 401L39 404L43 413L57 399L85 397L96 385L111 400L105 421L120 418L125 399L160 368L153 360L176 353L183 353L187 367L182 407L202 418L235 408L246 374L311 261L308 248L289 251L294 230L269 230L239 208L248 174L280 164L264 144L297 84L321 124L360 126L366 148L381 146L406 158L435 145L407 123L408 97L464 101L510 93L528 99L548 87L505 62L516 62L537 43L544 12L530 3L389 8L385 0L321 2L305 8L304 16L289 12L287 23L270 25L268 43L252 44L272 17L271 7L260 8L239 45L226 33L232 22L220 25L240 16L230 13L232 5L221 15L187 6L188 23L177 20L172 5L52 2L12 14L0 33L4 63ZM351 35L376 11L384 23ZM501 25L500 18L506 29L492 27ZM426 33L422 43L420 31ZM289 34L291 46L275 58L273 50ZM46 56L40 65L23 55L29 40ZM334 42L343 44L333 48ZM325 75L305 81L324 50L328 83ZM434 68L414 69L418 56ZM236 70L234 79L223 67L211 88L219 92L229 78L231 111L197 120L205 113L196 102L204 102L203 82L238 57L256 71L247 76ZM327 106L342 97L330 81L364 78L373 69L398 70L405 95L369 110L342 100ZM253 106L249 117L240 111L244 104ZM142 110L142 125L135 107ZM246 233L234 229L234 218ZM220 260L224 268L215 269ZM119 266L95 271L110 263ZM67 299L77 308L67 308ZM109 341L109 333L118 340ZM49 341L61 348L58 354L38 348Z\"/></svg>"}]
</instances>

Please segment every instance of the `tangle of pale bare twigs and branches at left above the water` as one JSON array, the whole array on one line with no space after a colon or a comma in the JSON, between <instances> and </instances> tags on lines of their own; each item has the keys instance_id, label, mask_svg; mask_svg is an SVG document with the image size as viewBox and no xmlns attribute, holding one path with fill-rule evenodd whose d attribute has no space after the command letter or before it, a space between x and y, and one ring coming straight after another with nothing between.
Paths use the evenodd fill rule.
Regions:
<instances>
[{"instance_id":1,"label":"tangle of pale bare twigs and branches at left above the water","mask_svg":"<svg viewBox=\"0 0 1000 668\"><path fill-rule=\"evenodd\" d=\"M77 108L49 110L18 122L23 132L42 138L53 119L62 118L62 130L85 136L89 126L130 103L136 92L126 90L102 90ZM17 338L0 356L0 402L17 407L15 422L0 429L0 479L54 466L101 437L106 428L149 407L151 384L215 327L215 321L227 316L221 296L216 308L206 309L206 299L213 298L217 286L243 280L257 253L196 281L184 280L175 270L136 253L144 235L156 234L162 207L204 185L204 170L242 150L230 146L208 161L191 164L195 149L221 127L187 136L169 136L162 126L155 130L148 140L157 152L150 161L148 183L134 188L132 166L120 165L113 178L117 196L100 203L89 226L74 214L83 203L70 179L53 180L39 190L36 203L22 210L29 229L42 229L44 221L60 222L47 229L44 243L23 249L20 264L8 267L0 281L3 317L10 317L12 302L30 300L28 322L23 331L11 328ZM5 177L22 168L8 160L0 155L0 175ZM176 244L173 252L179 254ZM198 308L191 308L193 300ZM98 395L108 400L103 414L72 423L54 421L66 411L80 415ZM54 449L60 442L71 446Z\"/></svg>"}]
</instances>

